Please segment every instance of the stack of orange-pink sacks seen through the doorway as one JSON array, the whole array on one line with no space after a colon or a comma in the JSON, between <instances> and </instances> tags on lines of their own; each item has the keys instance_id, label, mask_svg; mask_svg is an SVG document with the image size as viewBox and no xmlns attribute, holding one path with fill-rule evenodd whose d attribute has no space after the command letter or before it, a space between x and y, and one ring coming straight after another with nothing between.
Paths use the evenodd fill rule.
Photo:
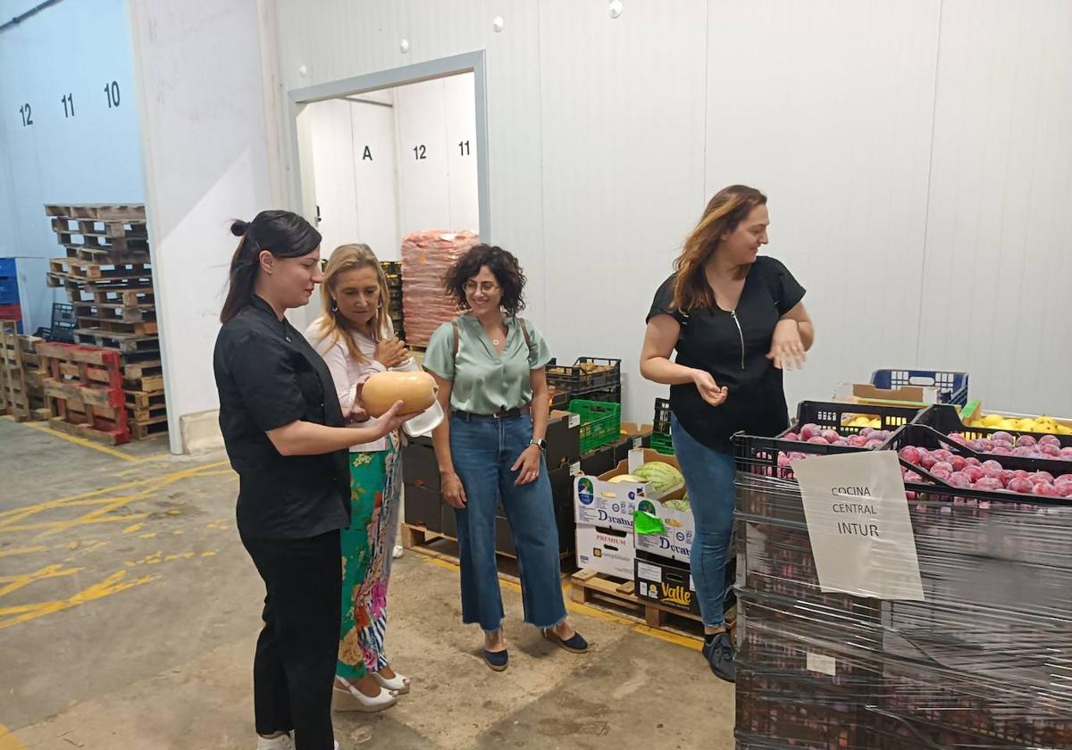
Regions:
<instances>
[{"instance_id":1,"label":"stack of orange-pink sacks seen through the doorway","mask_svg":"<svg viewBox=\"0 0 1072 750\"><path fill-rule=\"evenodd\" d=\"M447 269L480 238L472 231L414 231L402 239L402 315L408 343L428 346L458 305L443 290Z\"/></svg>"}]
</instances>

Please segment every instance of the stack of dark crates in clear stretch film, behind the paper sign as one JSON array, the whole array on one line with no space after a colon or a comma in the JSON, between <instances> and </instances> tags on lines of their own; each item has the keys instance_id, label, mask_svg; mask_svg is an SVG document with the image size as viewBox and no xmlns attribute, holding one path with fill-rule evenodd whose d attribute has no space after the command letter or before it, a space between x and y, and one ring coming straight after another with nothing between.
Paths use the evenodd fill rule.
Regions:
<instances>
[{"instance_id":1,"label":"stack of dark crates in clear stretch film, behind the paper sign","mask_svg":"<svg viewBox=\"0 0 1072 750\"><path fill-rule=\"evenodd\" d=\"M910 483L923 601L824 594L781 448L735 440L739 750L1072 748L1072 502Z\"/></svg>"}]
</instances>

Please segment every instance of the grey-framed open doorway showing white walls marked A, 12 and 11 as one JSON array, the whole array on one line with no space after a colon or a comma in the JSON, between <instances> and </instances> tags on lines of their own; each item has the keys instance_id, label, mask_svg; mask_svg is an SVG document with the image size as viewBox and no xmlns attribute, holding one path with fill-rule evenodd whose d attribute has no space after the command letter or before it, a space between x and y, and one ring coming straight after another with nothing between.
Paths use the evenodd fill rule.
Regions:
<instances>
[{"instance_id":1,"label":"grey-framed open doorway showing white walls marked A, 12 and 11","mask_svg":"<svg viewBox=\"0 0 1072 750\"><path fill-rule=\"evenodd\" d=\"M363 242L399 261L415 234L488 237L483 91L473 52L291 93L295 199L323 257Z\"/></svg>"}]
</instances>

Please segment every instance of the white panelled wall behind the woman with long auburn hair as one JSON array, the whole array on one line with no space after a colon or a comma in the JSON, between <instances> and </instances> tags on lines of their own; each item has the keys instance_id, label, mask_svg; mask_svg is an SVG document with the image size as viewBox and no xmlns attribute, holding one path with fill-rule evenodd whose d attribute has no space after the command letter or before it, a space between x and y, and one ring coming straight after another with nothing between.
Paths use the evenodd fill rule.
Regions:
<instances>
[{"instance_id":1,"label":"white panelled wall behind the woman with long auburn hair","mask_svg":"<svg viewBox=\"0 0 1072 750\"><path fill-rule=\"evenodd\" d=\"M487 239L521 257L561 359L624 358L628 417L662 391L636 363L652 294L730 182L769 193L769 250L808 288L818 342L791 401L879 366L959 366L988 404L1072 412L1060 378L1010 377L987 324L954 325L1000 289L1023 305L1000 329L1030 352L1021 369L1072 363L1058 282L1008 281L1069 278L1052 208L1072 199L1067 2L632 0L616 20L604 0L277 8L285 89L487 50Z\"/></svg>"}]
</instances>

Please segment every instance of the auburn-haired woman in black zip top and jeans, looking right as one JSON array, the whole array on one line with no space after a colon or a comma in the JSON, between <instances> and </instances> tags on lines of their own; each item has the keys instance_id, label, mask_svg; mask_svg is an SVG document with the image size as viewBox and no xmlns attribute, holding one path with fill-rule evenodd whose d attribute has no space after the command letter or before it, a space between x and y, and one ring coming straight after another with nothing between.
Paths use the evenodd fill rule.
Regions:
<instances>
[{"instance_id":1,"label":"auburn-haired woman in black zip top and jeans, looking right","mask_svg":"<svg viewBox=\"0 0 1072 750\"><path fill-rule=\"evenodd\" d=\"M779 261L760 257L766 196L731 185L708 204L675 273L655 294L640 372L670 386L671 437L696 521L691 570L704 626L703 655L733 681L726 631L726 551L733 531L733 452L745 431L788 426L784 369L799 368L815 331L804 288ZM670 361L674 349L676 361Z\"/></svg>"}]
</instances>

